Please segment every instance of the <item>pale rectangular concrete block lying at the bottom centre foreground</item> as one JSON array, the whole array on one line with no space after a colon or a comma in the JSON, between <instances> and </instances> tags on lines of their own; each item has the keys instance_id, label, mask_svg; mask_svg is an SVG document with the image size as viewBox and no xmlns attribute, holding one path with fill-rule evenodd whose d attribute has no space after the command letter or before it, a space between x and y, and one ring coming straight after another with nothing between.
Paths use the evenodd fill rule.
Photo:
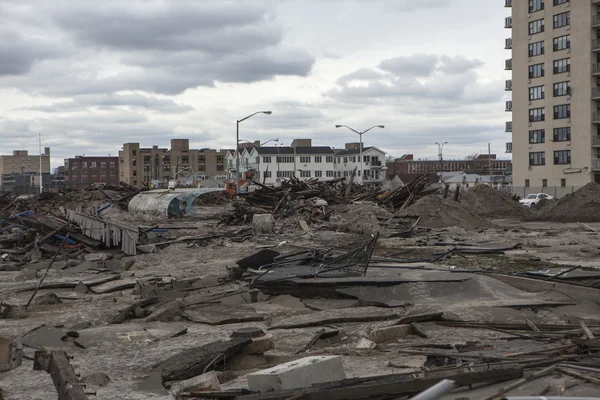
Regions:
<instances>
[{"instance_id":1,"label":"pale rectangular concrete block lying at the bottom centre foreground","mask_svg":"<svg viewBox=\"0 0 600 400\"><path fill-rule=\"evenodd\" d=\"M341 381L346 373L339 356L306 357L248 374L247 379L250 390L264 393Z\"/></svg>"}]
</instances>

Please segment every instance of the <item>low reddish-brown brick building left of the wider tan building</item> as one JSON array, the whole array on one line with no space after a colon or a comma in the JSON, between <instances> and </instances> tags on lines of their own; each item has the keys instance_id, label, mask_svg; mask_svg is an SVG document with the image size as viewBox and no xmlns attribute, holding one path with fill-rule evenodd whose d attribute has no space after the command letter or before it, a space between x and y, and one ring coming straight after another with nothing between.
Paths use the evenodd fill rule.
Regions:
<instances>
[{"instance_id":1,"label":"low reddish-brown brick building left of the wider tan building","mask_svg":"<svg viewBox=\"0 0 600 400\"><path fill-rule=\"evenodd\" d=\"M64 170L68 187L119 184L119 157L75 156L65 159Z\"/></svg>"}]
</instances>

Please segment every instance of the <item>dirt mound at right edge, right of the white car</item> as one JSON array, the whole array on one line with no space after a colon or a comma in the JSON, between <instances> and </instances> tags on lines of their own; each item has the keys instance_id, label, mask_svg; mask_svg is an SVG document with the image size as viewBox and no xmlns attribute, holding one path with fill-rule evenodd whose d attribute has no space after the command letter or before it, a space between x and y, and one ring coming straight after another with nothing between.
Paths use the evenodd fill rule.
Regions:
<instances>
[{"instance_id":1,"label":"dirt mound at right edge, right of the white car","mask_svg":"<svg viewBox=\"0 0 600 400\"><path fill-rule=\"evenodd\" d=\"M557 222L600 222L600 185L590 182L542 208L537 218Z\"/></svg>"}]
</instances>

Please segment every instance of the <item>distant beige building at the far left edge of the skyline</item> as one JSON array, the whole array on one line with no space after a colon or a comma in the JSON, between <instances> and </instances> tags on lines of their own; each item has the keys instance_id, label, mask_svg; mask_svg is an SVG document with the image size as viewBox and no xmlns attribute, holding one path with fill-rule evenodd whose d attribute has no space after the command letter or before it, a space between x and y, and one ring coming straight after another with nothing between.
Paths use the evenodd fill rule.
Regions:
<instances>
[{"instance_id":1,"label":"distant beige building at the far left edge of the skyline","mask_svg":"<svg viewBox=\"0 0 600 400\"><path fill-rule=\"evenodd\" d=\"M44 154L31 155L27 150L14 150L12 155L0 155L0 191L37 193L40 187L40 157L44 185L50 176L50 147ZM37 189L36 189L37 187Z\"/></svg>"}]
</instances>

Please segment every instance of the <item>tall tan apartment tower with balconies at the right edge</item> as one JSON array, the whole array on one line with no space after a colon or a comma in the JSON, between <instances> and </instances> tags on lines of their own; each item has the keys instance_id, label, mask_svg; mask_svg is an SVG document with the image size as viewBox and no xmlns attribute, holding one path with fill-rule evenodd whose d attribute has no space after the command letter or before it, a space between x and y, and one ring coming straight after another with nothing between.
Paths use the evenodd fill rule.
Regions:
<instances>
[{"instance_id":1,"label":"tall tan apartment tower with balconies at the right edge","mask_svg":"<svg viewBox=\"0 0 600 400\"><path fill-rule=\"evenodd\" d=\"M600 0L505 0L507 152L524 192L600 183ZM560 190L559 190L560 191Z\"/></svg>"}]
</instances>

